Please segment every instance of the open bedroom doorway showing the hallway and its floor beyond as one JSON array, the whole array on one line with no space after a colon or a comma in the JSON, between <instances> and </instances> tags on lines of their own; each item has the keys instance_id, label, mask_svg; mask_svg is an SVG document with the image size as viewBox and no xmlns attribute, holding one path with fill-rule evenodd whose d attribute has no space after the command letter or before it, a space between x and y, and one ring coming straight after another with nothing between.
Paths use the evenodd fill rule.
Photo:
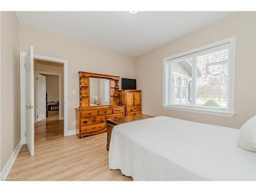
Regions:
<instances>
[{"instance_id":1,"label":"open bedroom doorway showing the hallway and its floor beyond","mask_svg":"<svg viewBox=\"0 0 256 192\"><path fill-rule=\"evenodd\" d=\"M64 134L63 72L61 63L34 59L35 143L47 140L49 133L57 138Z\"/></svg>"}]
</instances>

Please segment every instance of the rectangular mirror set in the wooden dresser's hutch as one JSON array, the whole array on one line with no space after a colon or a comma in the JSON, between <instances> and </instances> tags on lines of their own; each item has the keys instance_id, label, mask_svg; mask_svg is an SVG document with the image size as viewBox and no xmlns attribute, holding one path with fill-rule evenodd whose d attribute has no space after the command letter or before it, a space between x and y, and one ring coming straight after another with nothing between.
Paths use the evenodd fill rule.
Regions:
<instances>
[{"instance_id":1,"label":"rectangular mirror set in the wooden dresser's hutch","mask_svg":"<svg viewBox=\"0 0 256 192\"><path fill-rule=\"evenodd\" d=\"M110 105L110 80L90 77L90 106Z\"/></svg>"}]
</instances>

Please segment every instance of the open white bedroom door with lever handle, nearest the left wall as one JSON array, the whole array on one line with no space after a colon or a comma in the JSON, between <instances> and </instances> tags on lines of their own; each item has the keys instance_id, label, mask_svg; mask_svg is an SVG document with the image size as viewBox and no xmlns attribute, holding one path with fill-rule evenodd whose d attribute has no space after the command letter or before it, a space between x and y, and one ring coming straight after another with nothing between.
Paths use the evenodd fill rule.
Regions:
<instances>
[{"instance_id":1,"label":"open white bedroom door with lever handle, nearest the left wall","mask_svg":"<svg viewBox=\"0 0 256 192\"><path fill-rule=\"evenodd\" d=\"M25 57L26 82L26 145L34 156L34 56L31 46Z\"/></svg>"}]
</instances>

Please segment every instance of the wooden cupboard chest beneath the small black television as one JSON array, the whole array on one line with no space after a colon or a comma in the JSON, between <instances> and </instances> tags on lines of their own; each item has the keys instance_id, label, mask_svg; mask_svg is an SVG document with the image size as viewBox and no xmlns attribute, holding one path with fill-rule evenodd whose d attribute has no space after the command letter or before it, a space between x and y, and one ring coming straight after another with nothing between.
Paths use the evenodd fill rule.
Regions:
<instances>
[{"instance_id":1,"label":"wooden cupboard chest beneath the small black television","mask_svg":"<svg viewBox=\"0 0 256 192\"><path fill-rule=\"evenodd\" d=\"M141 90L120 90L120 104L126 105L125 115L141 114Z\"/></svg>"}]
</instances>

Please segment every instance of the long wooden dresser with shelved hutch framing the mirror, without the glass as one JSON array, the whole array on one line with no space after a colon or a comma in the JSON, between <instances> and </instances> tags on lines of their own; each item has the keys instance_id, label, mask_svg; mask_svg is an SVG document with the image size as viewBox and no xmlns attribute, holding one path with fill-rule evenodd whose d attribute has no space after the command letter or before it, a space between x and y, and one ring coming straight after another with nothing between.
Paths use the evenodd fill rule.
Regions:
<instances>
[{"instance_id":1,"label":"long wooden dresser with shelved hutch framing the mirror, without the glass","mask_svg":"<svg viewBox=\"0 0 256 192\"><path fill-rule=\"evenodd\" d=\"M76 133L79 138L106 132L106 120L124 117L125 105L119 103L119 77L88 72L79 73L79 108L76 108ZM90 104L90 78L109 80L109 104Z\"/></svg>"}]
</instances>

